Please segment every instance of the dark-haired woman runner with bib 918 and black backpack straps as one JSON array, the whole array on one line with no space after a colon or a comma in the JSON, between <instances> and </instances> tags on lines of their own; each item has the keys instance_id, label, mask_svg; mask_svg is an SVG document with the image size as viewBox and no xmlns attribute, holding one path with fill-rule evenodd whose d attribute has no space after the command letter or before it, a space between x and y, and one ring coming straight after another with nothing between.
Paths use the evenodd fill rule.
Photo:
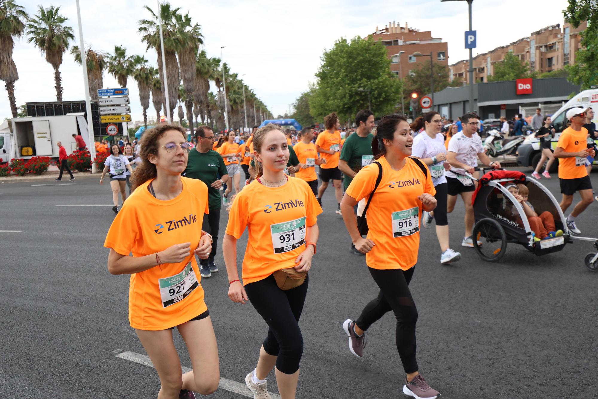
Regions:
<instances>
[{"instance_id":1,"label":"dark-haired woman runner with bib 918 and black backpack straps","mask_svg":"<svg viewBox=\"0 0 598 399\"><path fill-rule=\"evenodd\" d=\"M349 350L363 356L365 331L392 310L396 318L396 348L405 371L403 392L416 398L436 398L416 360L417 309L409 282L419 250L419 220L422 211L436 207L435 189L428 168L411 155L410 126L405 116L391 114L378 123L372 140L375 162L353 178L340 204L344 224L355 244L365 253L365 262L380 288L356 321L347 319L343 330L349 337ZM381 175L380 175L381 174ZM367 236L359 232L352 208L366 198L369 206Z\"/></svg>"}]
</instances>

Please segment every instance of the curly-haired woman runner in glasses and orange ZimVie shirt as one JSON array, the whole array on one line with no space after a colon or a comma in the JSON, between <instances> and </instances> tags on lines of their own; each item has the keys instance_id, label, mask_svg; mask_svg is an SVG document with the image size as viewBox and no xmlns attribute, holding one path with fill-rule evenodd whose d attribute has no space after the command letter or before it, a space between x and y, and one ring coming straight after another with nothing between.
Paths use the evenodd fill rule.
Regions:
<instances>
[{"instance_id":1,"label":"curly-haired woman runner in glasses and orange ZimVie shirt","mask_svg":"<svg viewBox=\"0 0 598 399\"><path fill-rule=\"evenodd\" d=\"M160 399L209 395L220 379L216 337L195 259L208 258L212 248L212 237L202 231L208 187L181 177L190 150L180 126L159 125L144 133L142 162L133 171L136 190L104 242L110 249L108 271L131 275L129 322L158 372ZM175 327L193 365L185 374L172 338Z\"/></svg>"}]
</instances>

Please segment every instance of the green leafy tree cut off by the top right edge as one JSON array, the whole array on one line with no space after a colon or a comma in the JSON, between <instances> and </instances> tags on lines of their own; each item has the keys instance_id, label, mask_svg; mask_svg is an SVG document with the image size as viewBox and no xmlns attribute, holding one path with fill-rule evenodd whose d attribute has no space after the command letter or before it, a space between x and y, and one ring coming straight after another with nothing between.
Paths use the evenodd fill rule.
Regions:
<instances>
[{"instance_id":1,"label":"green leafy tree cut off by the top right edge","mask_svg":"<svg viewBox=\"0 0 598 399\"><path fill-rule=\"evenodd\" d=\"M598 84L598 9L594 0L569 0L563 11L565 20L574 28L587 21L588 27L580 33L581 49L575 54L575 64L566 65L568 80L582 90Z\"/></svg>"}]
</instances>

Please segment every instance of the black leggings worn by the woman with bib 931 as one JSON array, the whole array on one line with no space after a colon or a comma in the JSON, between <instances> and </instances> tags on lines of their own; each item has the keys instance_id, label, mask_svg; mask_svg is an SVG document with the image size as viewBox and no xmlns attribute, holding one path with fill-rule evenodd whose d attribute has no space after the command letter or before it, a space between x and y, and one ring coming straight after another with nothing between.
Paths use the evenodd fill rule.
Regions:
<instances>
[{"instance_id":1,"label":"black leggings worn by the woman with bib 931","mask_svg":"<svg viewBox=\"0 0 598 399\"><path fill-rule=\"evenodd\" d=\"M264 340L264 350L271 356L278 356L276 368L285 374L299 370L303 355L303 335L298 322L308 283L309 273L303 284L282 291L270 274L266 279L245 286L249 301L270 327Z\"/></svg>"}]
</instances>

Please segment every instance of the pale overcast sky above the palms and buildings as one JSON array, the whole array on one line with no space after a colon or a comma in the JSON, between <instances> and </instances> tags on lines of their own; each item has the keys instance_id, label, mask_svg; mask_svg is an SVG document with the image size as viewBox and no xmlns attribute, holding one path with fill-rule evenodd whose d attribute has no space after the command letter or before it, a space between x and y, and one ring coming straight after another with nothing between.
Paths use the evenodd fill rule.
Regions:
<instances>
[{"instance_id":1,"label":"pale overcast sky above the palms and buildings","mask_svg":"<svg viewBox=\"0 0 598 399\"><path fill-rule=\"evenodd\" d=\"M16 0L33 15L40 0ZM194 22L202 25L205 50L211 57L220 57L220 47L226 46L224 61L233 72L245 75L245 81L274 115L284 114L289 104L308 83L320 65L324 49L334 45L340 37L365 37L374 32L376 25L384 28L390 21L401 26L405 22L420 31L432 31L449 43L449 64L468 57L463 49L463 31L468 26L465 1L440 2L440 0L172 0L173 7L189 11ZM544 26L563 24L562 10L565 0L475 0L473 2L473 29L477 30L476 53L525 37ZM74 0L46 1L44 7L60 5L60 14L68 17L67 23L77 28L77 8ZM102 52L114 52L115 45L123 45L129 54L145 54L155 65L154 50L145 51L137 33L140 19L149 19L143 8L157 9L155 1L101 0L81 1L81 19L86 46ZM521 7L524 5L524 8ZM54 74L50 64L33 44L23 37L16 41L14 62L19 70L16 82L17 106L25 102L56 101ZM65 54L60 67L63 99L84 99L81 67ZM104 87L118 87L117 81L104 72ZM129 78L133 120L142 119L137 85ZM4 89L4 82L2 82ZM155 111L150 103L149 116ZM10 117L10 104L6 90L0 95L0 120ZM176 119L175 112L175 119Z\"/></svg>"}]
</instances>

